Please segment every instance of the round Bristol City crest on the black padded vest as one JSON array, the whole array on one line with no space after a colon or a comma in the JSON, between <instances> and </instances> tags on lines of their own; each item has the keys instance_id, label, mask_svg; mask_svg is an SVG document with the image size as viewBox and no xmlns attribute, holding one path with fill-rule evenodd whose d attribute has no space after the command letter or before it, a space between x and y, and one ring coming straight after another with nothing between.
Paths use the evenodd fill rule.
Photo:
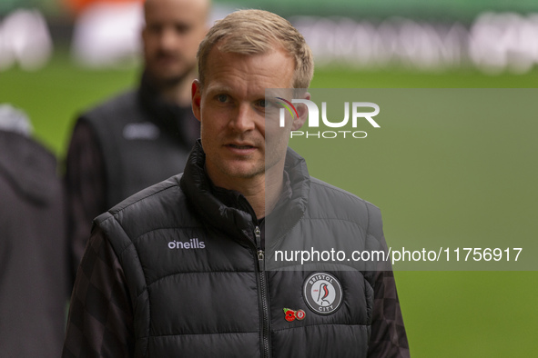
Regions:
<instances>
[{"instance_id":1,"label":"round Bristol City crest on the black padded vest","mask_svg":"<svg viewBox=\"0 0 538 358\"><path fill-rule=\"evenodd\" d=\"M330 314L340 308L342 287L331 273L311 273L303 283L303 296L314 313Z\"/></svg>"}]
</instances>

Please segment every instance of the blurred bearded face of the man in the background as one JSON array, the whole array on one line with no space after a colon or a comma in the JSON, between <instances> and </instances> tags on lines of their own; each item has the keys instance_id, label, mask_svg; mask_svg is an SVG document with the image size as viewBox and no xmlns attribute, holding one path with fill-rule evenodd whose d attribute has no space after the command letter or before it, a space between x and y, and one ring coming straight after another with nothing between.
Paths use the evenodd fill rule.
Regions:
<instances>
[{"instance_id":1,"label":"blurred bearded face of the man in the background","mask_svg":"<svg viewBox=\"0 0 538 358\"><path fill-rule=\"evenodd\" d=\"M207 12L207 0L147 0L144 61L157 85L175 85L196 68Z\"/></svg>"}]
</instances>

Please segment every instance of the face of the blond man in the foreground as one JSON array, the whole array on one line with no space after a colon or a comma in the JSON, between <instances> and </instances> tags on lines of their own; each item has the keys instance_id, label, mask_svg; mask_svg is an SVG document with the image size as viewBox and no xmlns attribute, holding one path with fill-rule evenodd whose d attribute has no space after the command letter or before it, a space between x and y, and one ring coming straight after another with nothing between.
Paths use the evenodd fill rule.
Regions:
<instances>
[{"instance_id":1,"label":"face of the blond man in the foreground","mask_svg":"<svg viewBox=\"0 0 538 358\"><path fill-rule=\"evenodd\" d=\"M281 49L239 55L221 53L214 46L207 61L206 83L201 88L195 81L192 102L201 122L209 177L225 186L239 178L263 176L266 170L281 175L289 131L301 123L296 119L280 128L278 110L271 109L276 115L266 126L265 89L291 87L293 58Z\"/></svg>"}]
</instances>

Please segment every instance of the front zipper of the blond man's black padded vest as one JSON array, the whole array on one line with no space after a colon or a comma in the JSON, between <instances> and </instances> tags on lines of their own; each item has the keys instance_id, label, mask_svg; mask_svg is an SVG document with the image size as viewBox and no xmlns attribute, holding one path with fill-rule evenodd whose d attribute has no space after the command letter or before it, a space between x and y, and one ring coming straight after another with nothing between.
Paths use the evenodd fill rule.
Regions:
<instances>
[{"instance_id":1,"label":"front zipper of the blond man's black padded vest","mask_svg":"<svg viewBox=\"0 0 538 358\"><path fill-rule=\"evenodd\" d=\"M265 252L261 249L261 231L259 226L254 229L256 237L256 255L258 258L258 274L259 274L259 293L261 303L261 353L262 357L269 358L269 295L267 292L267 278L265 274Z\"/></svg>"}]
</instances>

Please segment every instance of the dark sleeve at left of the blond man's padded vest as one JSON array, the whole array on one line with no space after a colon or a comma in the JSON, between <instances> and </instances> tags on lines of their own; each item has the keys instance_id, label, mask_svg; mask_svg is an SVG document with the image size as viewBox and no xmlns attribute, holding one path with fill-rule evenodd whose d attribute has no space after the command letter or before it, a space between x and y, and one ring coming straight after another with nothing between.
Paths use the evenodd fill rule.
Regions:
<instances>
[{"instance_id":1,"label":"dark sleeve at left of the blond man's padded vest","mask_svg":"<svg viewBox=\"0 0 538 358\"><path fill-rule=\"evenodd\" d=\"M117 358L133 352L125 275L107 237L96 228L76 273L62 356Z\"/></svg>"}]
</instances>

